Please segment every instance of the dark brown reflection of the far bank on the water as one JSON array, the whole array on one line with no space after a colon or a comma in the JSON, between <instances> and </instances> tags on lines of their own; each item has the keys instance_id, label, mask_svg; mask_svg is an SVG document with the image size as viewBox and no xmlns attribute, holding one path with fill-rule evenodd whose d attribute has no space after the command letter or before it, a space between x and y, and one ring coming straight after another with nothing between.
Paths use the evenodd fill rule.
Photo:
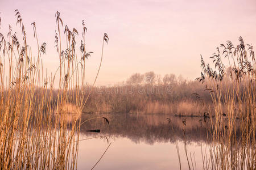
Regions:
<instances>
[{"instance_id":1,"label":"dark brown reflection of the far bank on the water","mask_svg":"<svg viewBox=\"0 0 256 170\"><path fill-rule=\"evenodd\" d=\"M110 126L102 120L86 122L81 126L81 133L86 135L98 135L88 133L86 130L101 129L101 135L110 137L127 137L134 141L154 144L155 142L175 142L183 139L183 129L188 142L206 142L207 128L200 125L200 118L188 118L187 124L182 124L182 119L172 117L172 127L166 121L166 115L135 115L135 114L104 114L110 120ZM83 115L82 121L92 116Z\"/></svg>"}]
</instances>

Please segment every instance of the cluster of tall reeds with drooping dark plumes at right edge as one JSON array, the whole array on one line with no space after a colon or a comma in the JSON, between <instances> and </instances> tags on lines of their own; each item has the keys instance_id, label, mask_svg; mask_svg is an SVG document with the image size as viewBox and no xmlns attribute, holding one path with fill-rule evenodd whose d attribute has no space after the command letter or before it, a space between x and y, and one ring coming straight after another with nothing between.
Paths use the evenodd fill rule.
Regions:
<instances>
[{"instance_id":1,"label":"cluster of tall reeds with drooping dark plumes at right edge","mask_svg":"<svg viewBox=\"0 0 256 170\"><path fill-rule=\"evenodd\" d=\"M209 111L209 165L205 169L255 169L255 57L253 46L221 44L213 54L213 65L204 62L197 78L207 80L205 87L212 96L213 111ZM222 50L222 51L221 51ZM228 66L226 66L228 65ZM224 112L225 111L225 112ZM212 118L211 116L215 117ZM237 138L236 129L241 131Z\"/></svg>"}]
</instances>

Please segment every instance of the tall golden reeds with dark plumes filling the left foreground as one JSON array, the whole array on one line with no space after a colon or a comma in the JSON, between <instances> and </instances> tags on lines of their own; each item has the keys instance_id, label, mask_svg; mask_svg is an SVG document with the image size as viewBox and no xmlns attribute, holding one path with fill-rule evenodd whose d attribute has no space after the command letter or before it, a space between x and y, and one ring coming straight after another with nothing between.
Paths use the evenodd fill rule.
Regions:
<instances>
[{"instance_id":1,"label":"tall golden reeds with dark plumes filling the left foreground","mask_svg":"<svg viewBox=\"0 0 256 170\"><path fill-rule=\"evenodd\" d=\"M60 12L56 12L59 67L56 73L47 74L42 61L47 44L40 45L35 22L30 29L37 49L32 53L18 10L15 16L21 34L10 25L7 36L0 33L0 169L76 169L79 117L90 95L83 90L86 58L92 54L85 50L85 22L77 46L79 32L63 27ZM102 52L105 42L106 33ZM59 84L57 90L54 84Z\"/></svg>"}]
</instances>

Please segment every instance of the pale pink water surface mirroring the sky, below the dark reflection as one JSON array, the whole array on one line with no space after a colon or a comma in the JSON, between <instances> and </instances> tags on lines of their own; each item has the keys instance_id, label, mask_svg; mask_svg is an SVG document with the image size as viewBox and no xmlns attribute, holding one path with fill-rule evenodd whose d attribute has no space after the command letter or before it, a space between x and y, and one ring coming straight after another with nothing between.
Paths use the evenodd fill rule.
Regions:
<instances>
[{"instance_id":1,"label":"pale pink water surface mirroring the sky, below the dark reflection","mask_svg":"<svg viewBox=\"0 0 256 170\"><path fill-rule=\"evenodd\" d=\"M85 137L81 135L81 137ZM183 143L178 142L181 155L181 169L188 169ZM77 169L91 169L108 147L106 141L90 139L79 144ZM202 146L203 149L205 145ZM197 169L203 169L201 146L191 143L188 146L192 156L195 153ZM179 169L176 146L174 143L155 142L154 145L144 142L134 143L129 138L112 139L108 152L97 164L95 169Z\"/></svg>"}]
</instances>

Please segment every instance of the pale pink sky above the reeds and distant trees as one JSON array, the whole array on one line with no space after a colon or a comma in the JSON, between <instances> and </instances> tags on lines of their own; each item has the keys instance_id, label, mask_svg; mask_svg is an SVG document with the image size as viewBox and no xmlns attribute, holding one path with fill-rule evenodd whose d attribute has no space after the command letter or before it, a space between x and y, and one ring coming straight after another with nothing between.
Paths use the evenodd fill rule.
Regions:
<instances>
[{"instance_id":1,"label":"pale pink sky above the reeds and distant trees","mask_svg":"<svg viewBox=\"0 0 256 170\"><path fill-rule=\"evenodd\" d=\"M256 44L256 1L0 1L0 32L15 27L18 9L28 33L36 22L40 44L47 42L44 66L54 71L59 57L54 48L55 12L64 25L81 33L84 19L86 45L94 52L87 62L92 83L100 62L103 33L110 41L105 48L98 85L122 82L133 73L155 71L195 79L200 75L200 54L209 58L226 40ZM14 28L20 31L19 28Z\"/></svg>"}]
</instances>

